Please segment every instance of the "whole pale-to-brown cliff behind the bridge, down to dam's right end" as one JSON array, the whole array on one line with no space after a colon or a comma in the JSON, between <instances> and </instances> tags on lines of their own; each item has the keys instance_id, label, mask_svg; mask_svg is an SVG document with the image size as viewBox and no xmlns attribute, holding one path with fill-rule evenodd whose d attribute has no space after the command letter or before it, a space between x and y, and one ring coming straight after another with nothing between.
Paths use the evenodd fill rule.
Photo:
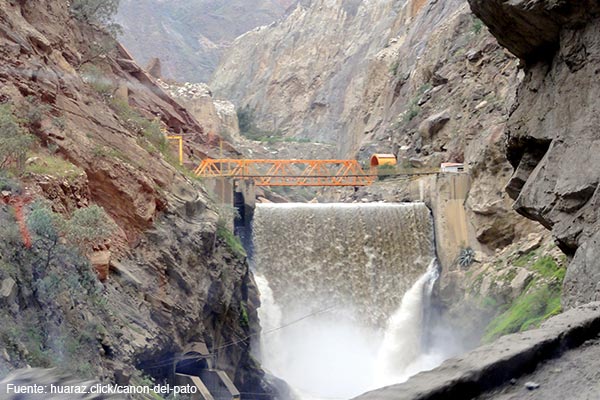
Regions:
<instances>
[{"instance_id":1,"label":"whole pale-to-brown cliff behind the bridge, down to dam's right end","mask_svg":"<svg viewBox=\"0 0 600 400\"><path fill-rule=\"evenodd\" d=\"M414 170L464 161L474 231L465 245L494 250L531 232L503 193L517 60L465 2L352 4L303 3L240 37L215 92L254 108L264 128L337 143L343 157L394 152Z\"/></svg>"}]
</instances>

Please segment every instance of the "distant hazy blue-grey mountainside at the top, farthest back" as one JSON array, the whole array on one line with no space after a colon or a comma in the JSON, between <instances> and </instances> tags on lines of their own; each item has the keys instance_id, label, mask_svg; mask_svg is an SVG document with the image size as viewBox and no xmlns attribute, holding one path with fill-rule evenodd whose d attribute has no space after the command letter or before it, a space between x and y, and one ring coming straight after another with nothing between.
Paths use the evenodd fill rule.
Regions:
<instances>
[{"instance_id":1,"label":"distant hazy blue-grey mountainside at the top, farthest back","mask_svg":"<svg viewBox=\"0 0 600 400\"><path fill-rule=\"evenodd\" d=\"M165 77L206 82L237 36L283 16L294 0L122 0L117 21L136 60L163 62Z\"/></svg>"}]
</instances>

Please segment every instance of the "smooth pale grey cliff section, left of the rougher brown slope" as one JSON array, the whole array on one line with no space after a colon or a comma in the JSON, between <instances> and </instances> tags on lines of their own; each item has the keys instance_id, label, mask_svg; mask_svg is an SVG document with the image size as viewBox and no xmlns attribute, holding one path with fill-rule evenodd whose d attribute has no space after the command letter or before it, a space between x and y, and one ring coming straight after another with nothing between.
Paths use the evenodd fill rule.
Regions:
<instances>
[{"instance_id":1,"label":"smooth pale grey cliff section, left of the rougher brown slope","mask_svg":"<svg viewBox=\"0 0 600 400\"><path fill-rule=\"evenodd\" d=\"M301 2L283 21L238 38L211 87L249 106L263 129L336 142L363 101L371 58L402 13L399 1ZM348 151L355 140L344 133Z\"/></svg>"}]
</instances>

